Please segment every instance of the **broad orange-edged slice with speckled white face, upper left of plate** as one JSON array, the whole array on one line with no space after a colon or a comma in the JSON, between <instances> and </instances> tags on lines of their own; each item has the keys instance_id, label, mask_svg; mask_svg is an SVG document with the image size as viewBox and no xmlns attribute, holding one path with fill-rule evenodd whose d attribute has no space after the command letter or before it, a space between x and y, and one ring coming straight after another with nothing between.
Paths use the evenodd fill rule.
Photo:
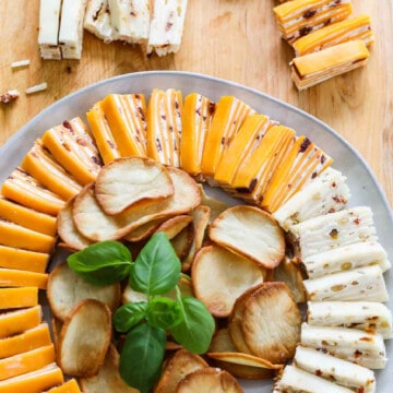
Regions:
<instances>
[{"instance_id":1,"label":"broad orange-edged slice with speckled white face, upper left of plate","mask_svg":"<svg viewBox=\"0 0 393 393\"><path fill-rule=\"evenodd\" d=\"M56 160L79 183L95 180L100 169L100 157L87 128L79 118L64 121L43 135L43 143Z\"/></svg>"}]
</instances>

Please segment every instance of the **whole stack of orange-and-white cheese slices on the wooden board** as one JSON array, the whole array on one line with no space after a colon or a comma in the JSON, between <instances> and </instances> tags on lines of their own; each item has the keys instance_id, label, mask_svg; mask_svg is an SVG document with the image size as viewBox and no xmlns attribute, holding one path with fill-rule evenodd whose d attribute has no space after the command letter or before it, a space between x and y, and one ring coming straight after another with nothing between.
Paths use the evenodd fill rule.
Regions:
<instances>
[{"instance_id":1,"label":"whole stack of orange-and-white cheese slices on the wooden board","mask_svg":"<svg viewBox=\"0 0 393 393\"><path fill-rule=\"evenodd\" d=\"M290 69L299 91L367 63L374 43L370 17L350 16L350 0L293 0L273 12L295 50Z\"/></svg>"}]
</instances>

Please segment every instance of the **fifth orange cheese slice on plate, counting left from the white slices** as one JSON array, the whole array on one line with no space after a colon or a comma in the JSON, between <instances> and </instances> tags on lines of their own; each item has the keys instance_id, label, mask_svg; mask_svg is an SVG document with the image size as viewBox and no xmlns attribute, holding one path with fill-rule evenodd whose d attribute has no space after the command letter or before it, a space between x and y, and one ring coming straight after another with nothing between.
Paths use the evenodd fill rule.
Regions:
<instances>
[{"instance_id":1,"label":"fifth orange cheese slice on plate, counting left from the white slices","mask_svg":"<svg viewBox=\"0 0 393 393\"><path fill-rule=\"evenodd\" d=\"M188 174L202 172L202 153L215 112L215 103L201 94L192 93L184 98L181 112L180 166Z\"/></svg>"}]
</instances>

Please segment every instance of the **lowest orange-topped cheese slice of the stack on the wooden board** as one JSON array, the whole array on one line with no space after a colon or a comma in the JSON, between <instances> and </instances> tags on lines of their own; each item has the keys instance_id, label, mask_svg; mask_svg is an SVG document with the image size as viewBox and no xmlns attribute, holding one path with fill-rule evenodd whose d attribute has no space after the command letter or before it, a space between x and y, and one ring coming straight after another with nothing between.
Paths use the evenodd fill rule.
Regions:
<instances>
[{"instance_id":1,"label":"lowest orange-topped cheese slice of the stack on the wooden board","mask_svg":"<svg viewBox=\"0 0 393 393\"><path fill-rule=\"evenodd\" d=\"M337 44L300 56L290 62L291 78L299 91L364 67L370 56L361 39Z\"/></svg>"}]
</instances>

